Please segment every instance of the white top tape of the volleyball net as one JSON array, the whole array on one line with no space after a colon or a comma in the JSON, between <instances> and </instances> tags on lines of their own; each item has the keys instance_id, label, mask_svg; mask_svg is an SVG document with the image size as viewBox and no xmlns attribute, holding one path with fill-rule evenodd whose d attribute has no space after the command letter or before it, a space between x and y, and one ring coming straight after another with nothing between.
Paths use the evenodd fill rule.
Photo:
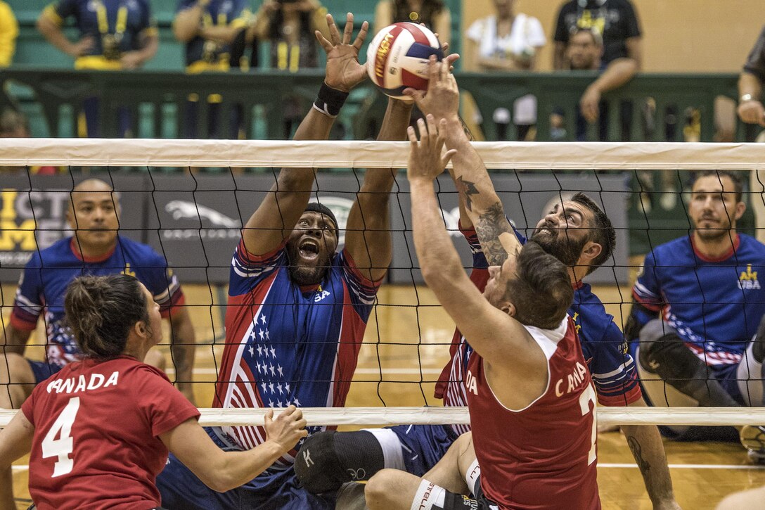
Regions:
<instances>
[{"instance_id":1,"label":"white top tape of the volleyball net","mask_svg":"<svg viewBox=\"0 0 765 510\"><path fill-rule=\"evenodd\" d=\"M765 144L474 142L487 168L755 170ZM0 139L0 165L405 168L409 142Z\"/></svg>"}]
</instances>

